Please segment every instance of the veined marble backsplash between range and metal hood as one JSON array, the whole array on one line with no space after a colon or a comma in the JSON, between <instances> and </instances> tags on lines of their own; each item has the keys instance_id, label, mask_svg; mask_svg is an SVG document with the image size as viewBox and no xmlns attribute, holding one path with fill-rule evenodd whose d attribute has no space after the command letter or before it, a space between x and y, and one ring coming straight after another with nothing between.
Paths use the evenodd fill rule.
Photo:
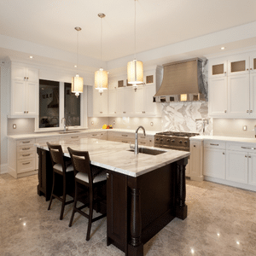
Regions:
<instances>
[{"instance_id":1,"label":"veined marble backsplash between range and metal hood","mask_svg":"<svg viewBox=\"0 0 256 256\"><path fill-rule=\"evenodd\" d=\"M185 131L202 134L203 122L209 119L205 135L212 135L212 119L208 117L208 102L162 103L162 131Z\"/></svg>"}]
</instances>

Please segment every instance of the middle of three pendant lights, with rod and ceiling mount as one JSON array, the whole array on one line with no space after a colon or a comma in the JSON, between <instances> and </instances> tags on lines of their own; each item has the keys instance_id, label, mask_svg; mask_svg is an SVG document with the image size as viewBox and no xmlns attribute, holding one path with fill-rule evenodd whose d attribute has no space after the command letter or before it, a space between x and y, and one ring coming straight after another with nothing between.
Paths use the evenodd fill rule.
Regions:
<instances>
[{"instance_id":1,"label":"middle of three pendant lights, with rod and ceiling mount","mask_svg":"<svg viewBox=\"0 0 256 256\"><path fill-rule=\"evenodd\" d=\"M104 18L106 15L100 13L98 14L98 16L101 18L101 61L102 61L102 18ZM102 67L95 73L95 88L96 90L99 90L101 95L103 90L108 89L108 72L106 70L103 70Z\"/></svg>"}]
</instances>

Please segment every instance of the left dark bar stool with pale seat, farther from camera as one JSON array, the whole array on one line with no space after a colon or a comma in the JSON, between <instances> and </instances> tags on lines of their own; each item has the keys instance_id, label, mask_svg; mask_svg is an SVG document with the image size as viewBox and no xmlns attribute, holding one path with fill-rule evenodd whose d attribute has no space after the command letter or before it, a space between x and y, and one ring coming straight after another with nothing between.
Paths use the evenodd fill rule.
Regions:
<instances>
[{"instance_id":1,"label":"left dark bar stool with pale seat, farther from camera","mask_svg":"<svg viewBox=\"0 0 256 256\"><path fill-rule=\"evenodd\" d=\"M61 215L60 215L60 219L62 219L65 206L73 203L73 200L66 201L67 192L69 192L70 190L71 192L73 192L72 191L73 190L73 166L71 164L71 161L64 159L61 145L53 145L53 144L47 143L47 146L49 148L49 154L50 154L52 169L53 169L52 190L51 190L48 210L50 209L53 198L58 199L59 201L62 202ZM59 177L62 177L62 180L63 180L61 184L62 198L61 198L61 195L59 195L60 193L56 192L57 187L60 186L56 178L56 175Z\"/></svg>"}]
</instances>

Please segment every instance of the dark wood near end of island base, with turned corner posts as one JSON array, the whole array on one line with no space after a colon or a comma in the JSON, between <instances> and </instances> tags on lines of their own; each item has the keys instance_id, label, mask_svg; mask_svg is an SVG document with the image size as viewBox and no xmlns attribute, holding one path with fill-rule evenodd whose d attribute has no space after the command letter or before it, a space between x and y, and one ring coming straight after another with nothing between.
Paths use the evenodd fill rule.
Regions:
<instances>
[{"instance_id":1,"label":"dark wood near end of island base, with turned corner posts","mask_svg":"<svg viewBox=\"0 0 256 256\"><path fill-rule=\"evenodd\" d=\"M178 160L138 177L108 172L107 243L143 256L143 244L173 218L187 218L185 166Z\"/></svg>"}]
</instances>

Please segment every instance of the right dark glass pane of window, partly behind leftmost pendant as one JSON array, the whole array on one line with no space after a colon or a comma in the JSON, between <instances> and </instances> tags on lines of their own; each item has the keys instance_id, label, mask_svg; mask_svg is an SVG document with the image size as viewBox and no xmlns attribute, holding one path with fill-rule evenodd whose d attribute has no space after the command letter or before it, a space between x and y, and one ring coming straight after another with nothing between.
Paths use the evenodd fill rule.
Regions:
<instances>
[{"instance_id":1,"label":"right dark glass pane of window, partly behind leftmost pendant","mask_svg":"<svg viewBox=\"0 0 256 256\"><path fill-rule=\"evenodd\" d=\"M77 97L71 92L71 84L65 83L64 118L67 126L80 125L80 95Z\"/></svg>"}]
</instances>

